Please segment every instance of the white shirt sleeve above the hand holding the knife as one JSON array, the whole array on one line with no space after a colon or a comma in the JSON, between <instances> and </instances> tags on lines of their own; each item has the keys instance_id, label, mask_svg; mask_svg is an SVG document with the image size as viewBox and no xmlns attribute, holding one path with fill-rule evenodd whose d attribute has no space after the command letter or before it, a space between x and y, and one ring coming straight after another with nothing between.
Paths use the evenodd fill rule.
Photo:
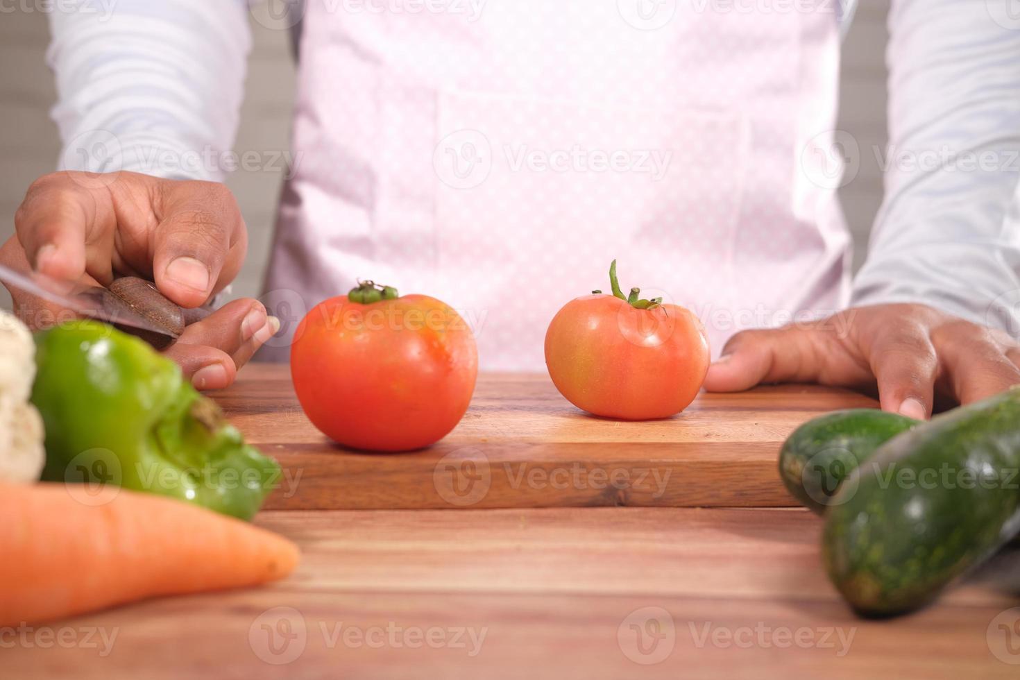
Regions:
<instances>
[{"instance_id":1,"label":"white shirt sleeve above the hand holding the knife","mask_svg":"<svg viewBox=\"0 0 1020 680\"><path fill-rule=\"evenodd\" d=\"M51 12L59 169L222 180L251 35L244 0L86 0Z\"/></svg>"}]
</instances>

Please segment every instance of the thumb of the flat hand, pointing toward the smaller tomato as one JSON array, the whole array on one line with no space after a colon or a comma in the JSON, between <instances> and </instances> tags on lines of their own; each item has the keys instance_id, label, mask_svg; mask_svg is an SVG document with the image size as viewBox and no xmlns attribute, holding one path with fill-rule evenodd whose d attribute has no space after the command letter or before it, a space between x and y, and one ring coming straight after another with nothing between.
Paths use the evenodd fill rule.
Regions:
<instances>
[{"instance_id":1,"label":"thumb of the flat hand, pointing toward the smaller tomato","mask_svg":"<svg viewBox=\"0 0 1020 680\"><path fill-rule=\"evenodd\" d=\"M745 330L733 335L708 369L709 391L743 391L762 382L809 382L817 378L806 331Z\"/></svg>"}]
</instances>

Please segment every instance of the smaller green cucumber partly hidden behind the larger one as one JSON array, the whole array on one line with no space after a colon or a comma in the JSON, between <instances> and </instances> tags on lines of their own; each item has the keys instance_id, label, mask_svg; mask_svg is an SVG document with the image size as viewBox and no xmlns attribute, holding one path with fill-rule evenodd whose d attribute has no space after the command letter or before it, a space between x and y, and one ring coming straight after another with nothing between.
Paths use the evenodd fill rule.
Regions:
<instances>
[{"instance_id":1,"label":"smaller green cucumber partly hidden behind the larger one","mask_svg":"<svg viewBox=\"0 0 1020 680\"><path fill-rule=\"evenodd\" d=\"M779 452L779 476L805 508L821 514L840 482L878 447L919 421L875 409L835 411L797 428Z\"/></svg>"}]
</instances>

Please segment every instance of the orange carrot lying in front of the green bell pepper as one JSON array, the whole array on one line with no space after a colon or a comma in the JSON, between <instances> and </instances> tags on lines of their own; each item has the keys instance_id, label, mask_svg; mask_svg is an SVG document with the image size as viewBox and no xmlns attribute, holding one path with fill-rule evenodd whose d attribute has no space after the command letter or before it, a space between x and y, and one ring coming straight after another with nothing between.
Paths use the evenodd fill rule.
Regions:
<instances>
[{"instance_id":1,"label":"orange carrot lying in front of the green bell pepper","mask_svg":"<svg viewBox=\"0 0 1020 680\"><path fill-rule=\"evenodd\" d=\"M83 504L83 488L0 484L0 626L252 586L297 566L297 545L241 520L125 489Z\"/></svg>"}]
</instances>

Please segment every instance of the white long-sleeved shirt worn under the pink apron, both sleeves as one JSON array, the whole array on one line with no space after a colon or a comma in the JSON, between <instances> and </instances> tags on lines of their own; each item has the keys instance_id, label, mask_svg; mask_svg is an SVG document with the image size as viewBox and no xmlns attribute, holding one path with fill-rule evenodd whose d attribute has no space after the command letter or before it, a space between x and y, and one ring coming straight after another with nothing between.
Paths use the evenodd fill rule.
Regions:
<instances>
[{"instance_id":1,"label":"white long-sleeved shirt worn under the pink apron, both sleeves","mask_svg":"<svg viewBox=\"0 0 1020 680\"><path fill-rule=\"evenodd\" d=\"M892 3L885 198L854 304L924 303L1020 333L1020 19L997 2ZM221 180L247 4L107 5L51 14L61 167Z\"/></svg>"}]
</instances>

